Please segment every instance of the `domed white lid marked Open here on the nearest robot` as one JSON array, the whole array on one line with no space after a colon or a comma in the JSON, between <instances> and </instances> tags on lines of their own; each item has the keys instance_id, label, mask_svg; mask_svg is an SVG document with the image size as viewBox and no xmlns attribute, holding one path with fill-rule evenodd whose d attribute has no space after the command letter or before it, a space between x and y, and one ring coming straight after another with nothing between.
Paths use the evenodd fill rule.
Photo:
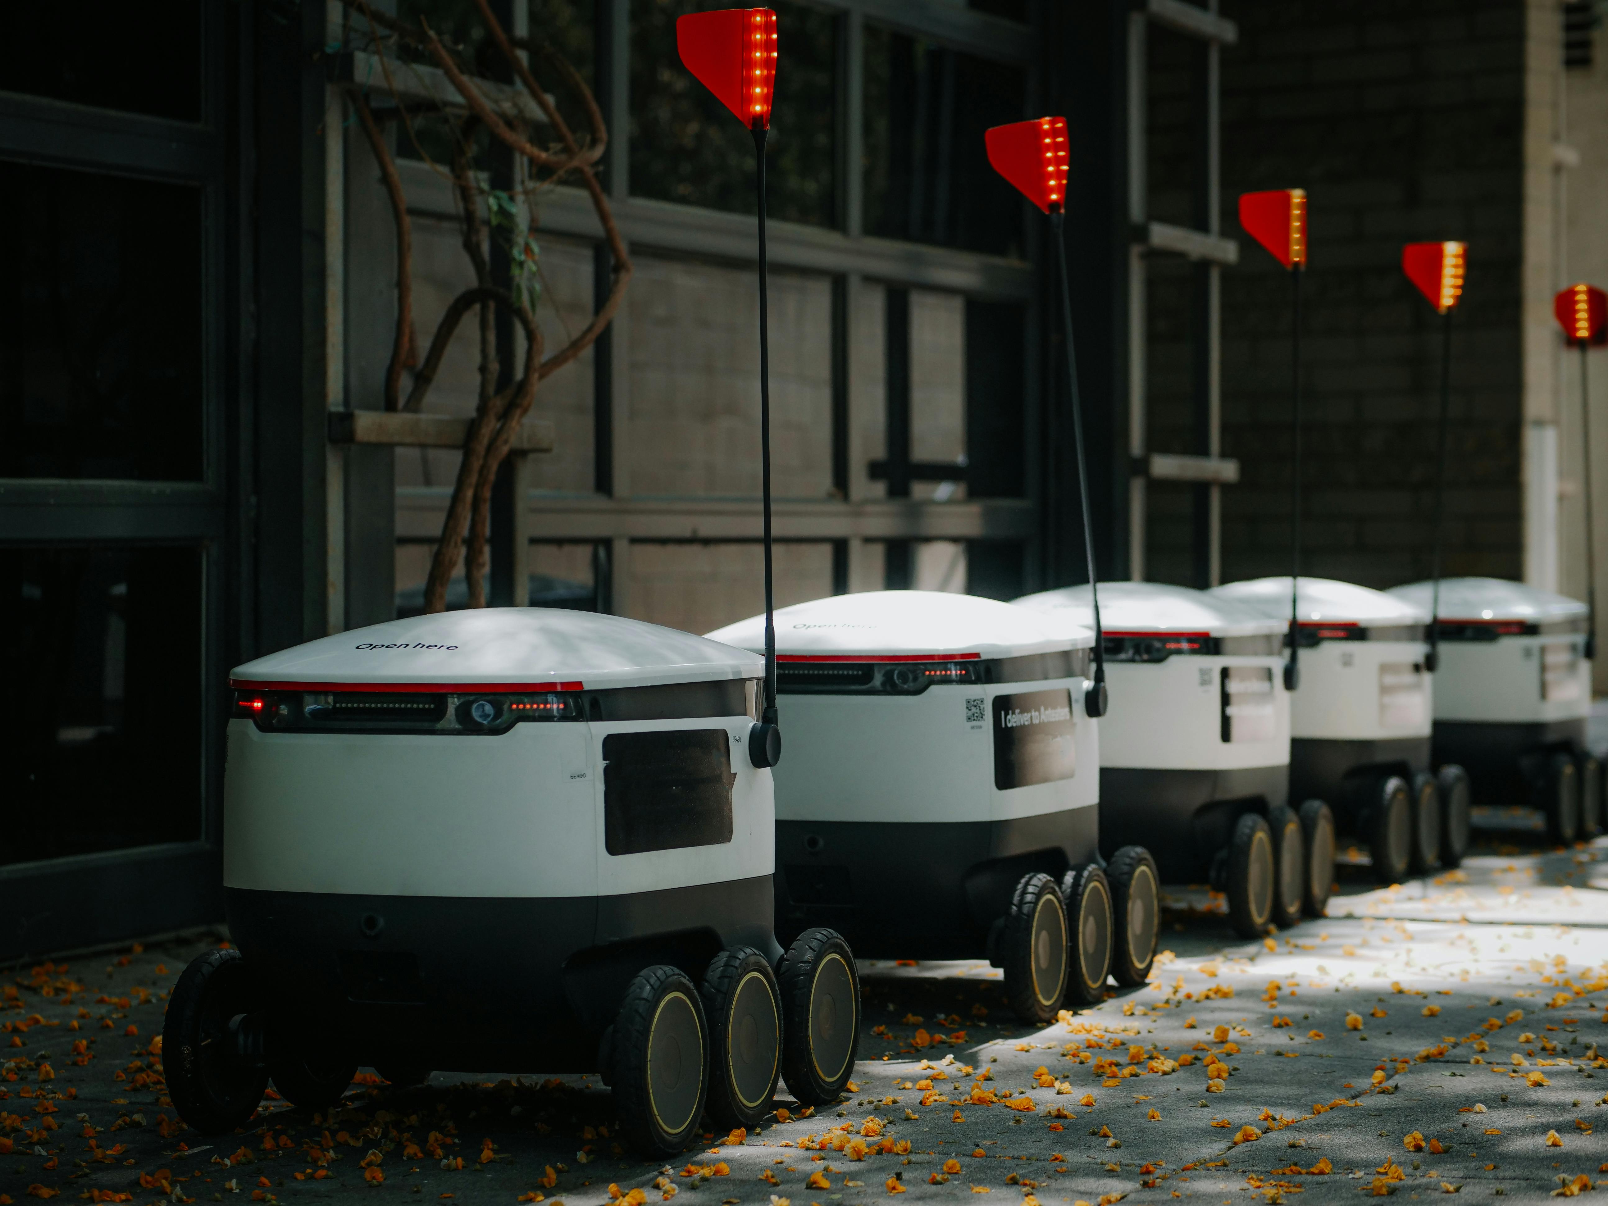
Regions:
<instances>
[{"instance_id":1,"label":"domed white lid marked Open here on the nearest robot","mask_svg":"<svg viewBox=\"0 0 1608 1206\"><path fill-rule=\"evenodd\" d=\"M230 679L264 690L307 683L577 691L764 672L751 653L658 624L558 608L471 608L320 637L238 666Z\"/></svg>"}]
</instances>

